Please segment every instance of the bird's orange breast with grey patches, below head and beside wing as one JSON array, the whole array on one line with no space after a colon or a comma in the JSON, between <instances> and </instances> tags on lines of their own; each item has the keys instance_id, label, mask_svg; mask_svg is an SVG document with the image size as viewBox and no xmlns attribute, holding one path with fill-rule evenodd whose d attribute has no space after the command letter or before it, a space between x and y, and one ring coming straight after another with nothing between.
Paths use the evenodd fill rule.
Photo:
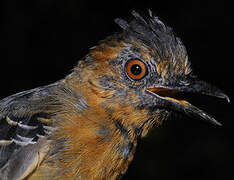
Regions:
<instances>
[{"instance_id":1,"label":"bird's orange breast with grey patches, below head and beside wing","mask_svg":"<svg viewBox=\"0 0 234 180\"><path fill-rule=\"evenodd\" d=\"M58 153L61 161L57 165L63 172L60 178L117 179L126 172L134 156L137 136L120 120L113 122L98 113L90 109L83 115L64 115L70 125L66 123L58 131L59 139L55 141L65 139Z\"/></svg>"}]
</instances>

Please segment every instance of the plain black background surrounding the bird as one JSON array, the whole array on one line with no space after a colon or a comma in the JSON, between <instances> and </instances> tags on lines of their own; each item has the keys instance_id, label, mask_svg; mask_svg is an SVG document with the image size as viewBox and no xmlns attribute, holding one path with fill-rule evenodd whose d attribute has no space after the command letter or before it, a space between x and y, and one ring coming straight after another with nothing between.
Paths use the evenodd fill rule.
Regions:
<instances>
[{"instance_id":1,"label":"plain black background surrounding the bird","mask_svg":"<svg viewBox=\"0 0 234 180\"><path fill-rule=\"evenodd\" d=\"M150 8L183 40L200 79L230 99L233 16L226 1L0 1L0 98L63 78L116 17ZM124 179L234 179L232 103L195 98L223 126L173 115L138 146Z\"/></svg>"}]
</instances>

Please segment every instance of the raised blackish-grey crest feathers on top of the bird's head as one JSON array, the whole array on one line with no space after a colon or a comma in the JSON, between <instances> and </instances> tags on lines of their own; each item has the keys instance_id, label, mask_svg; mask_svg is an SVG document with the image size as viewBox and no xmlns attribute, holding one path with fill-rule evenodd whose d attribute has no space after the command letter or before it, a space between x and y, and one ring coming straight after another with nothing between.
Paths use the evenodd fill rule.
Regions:
<instances>
[{"instance_id":1,"label":"raised blackish-grey crest feathers on top of the bird's head","mask_svg":"<svg viewBox=\"0 0 234 180\"><path fill-rule=\"evenodd\" d=\"M186 49L172 28L154 16L151 10L148 12L148 16L142 17L136 11L132 11L134 19L130 22L120 18L115 19L115 22L128 37L136 38L156 49L161 59L186 58Z\"/></svg>"}]
</instances>

